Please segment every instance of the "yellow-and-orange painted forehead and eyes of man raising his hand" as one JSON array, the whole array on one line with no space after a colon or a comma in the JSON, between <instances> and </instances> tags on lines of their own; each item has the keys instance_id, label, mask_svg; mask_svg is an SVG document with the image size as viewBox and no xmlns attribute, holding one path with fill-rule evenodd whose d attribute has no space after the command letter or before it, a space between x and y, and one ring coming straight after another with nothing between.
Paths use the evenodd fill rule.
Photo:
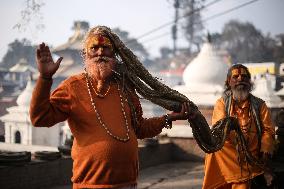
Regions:
<instances>
[{"instance_id":1,"label":"yellow-and-orange painted forehead and eyes of man raising his hand","mask_svg":"<svg viewBox=\"0 0 284 189\"><path fill-rule=\"evenodd\" d=\"M85 43L87 53L89 53L93 48L97 47L108 48L109 50L113 51L113 46L110 39L101 34L90 36Z\"/></svg>"}]
</instances>

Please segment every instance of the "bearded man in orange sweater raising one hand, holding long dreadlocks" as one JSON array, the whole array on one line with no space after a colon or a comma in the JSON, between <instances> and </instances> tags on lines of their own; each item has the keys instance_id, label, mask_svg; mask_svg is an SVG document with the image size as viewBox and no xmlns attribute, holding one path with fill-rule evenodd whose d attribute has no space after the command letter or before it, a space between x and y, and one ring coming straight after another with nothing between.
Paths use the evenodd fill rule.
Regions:
<instances>
[{"instance_id":1,"label":"bearded man in orange sweater raising one hand, holding long dreadlocks","mask_svg":"<svg viewBox=\"0 0 284 189\"><path fill-rule=\"evenodd\" d=\"M164 127L171 128L172 121L188 119L189 102L183 101L178 112L143 118L137 90L153 102L170 99L175 92L155 80L108 27L97 26L86 34L82 56L84 71L67 78L51 93L52 77L62 57L54 61L49 47L39 45L40 77L32 95L31 121L36 127L68 121L74 136L74 189L136 189L137 139L154 137ZM148 89L150 85L156 90Z\"/></svg>"}]
</instances>

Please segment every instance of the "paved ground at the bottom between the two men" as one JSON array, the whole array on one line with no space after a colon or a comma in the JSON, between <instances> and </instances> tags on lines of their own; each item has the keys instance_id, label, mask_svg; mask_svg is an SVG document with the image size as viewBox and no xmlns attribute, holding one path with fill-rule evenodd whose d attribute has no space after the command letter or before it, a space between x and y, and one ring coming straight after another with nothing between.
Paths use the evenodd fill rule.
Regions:
<instances>
[{"instance_id":1,"label":"paved ground at the bottom between the two men","mask_svg":"<svg viewBox=\"0 0 284 189\"><path fill-rule=\"evenodd\" d=\"M140 171L138 189L200 189L203 175L202 162L162 164ZM51 189L71 188L58 186Z\"/></svg>"}]
</instances>

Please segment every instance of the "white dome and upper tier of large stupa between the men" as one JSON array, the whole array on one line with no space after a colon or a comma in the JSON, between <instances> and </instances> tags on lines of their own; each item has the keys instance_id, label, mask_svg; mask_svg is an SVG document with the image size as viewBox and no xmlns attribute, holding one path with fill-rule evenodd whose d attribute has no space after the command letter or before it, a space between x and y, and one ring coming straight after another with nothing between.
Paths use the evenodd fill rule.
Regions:
<instances>
[{"instance_id":1,"label":"white dome and upper tier of large stupa between the men","mask_svg":"<svg viewBox=\"0 0 284 189\"><path fill-rule=\"evenodd\" d=\"M185 68L185 85L176 86L175 90L198 106L214 106L224 90L228 64L225 57L210 42L206 42L197 57Z\"/></svg>"}]
</instances>

